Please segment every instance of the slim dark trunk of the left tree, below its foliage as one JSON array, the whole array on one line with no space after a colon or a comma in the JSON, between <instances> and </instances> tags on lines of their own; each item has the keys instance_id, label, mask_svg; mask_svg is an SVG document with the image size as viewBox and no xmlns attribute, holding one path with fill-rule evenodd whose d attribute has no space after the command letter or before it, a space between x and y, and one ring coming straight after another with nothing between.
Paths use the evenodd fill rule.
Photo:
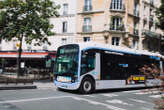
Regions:
<instances>
[{"instance_id":1,"label":"slim dark trunk of the left tree, below its foliage","mask_svg":"<svg viewBox=\"0 0 164 110\"><path fill-rule=\"evenodd\" d=\"M23 35L20 38L20 43L19 43L19 49L18 49L18 57L17 57L17 76L22 76L23 73L21 73L21 53L22 53L22 39L23 39Z\"/></svg>"}]
</instances>

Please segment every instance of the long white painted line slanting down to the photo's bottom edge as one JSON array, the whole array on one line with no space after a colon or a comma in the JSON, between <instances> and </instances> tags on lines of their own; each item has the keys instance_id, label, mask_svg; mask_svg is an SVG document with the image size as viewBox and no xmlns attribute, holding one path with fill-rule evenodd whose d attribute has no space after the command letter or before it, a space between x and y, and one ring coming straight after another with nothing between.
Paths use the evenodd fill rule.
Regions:
<instances>
[{"instance_id":1,"label":"long white painted line slanting down to the photo's bottom edge","mask_svg":"<svg viewBox=\"0 0 164 110\"><path fill-rule=\"evenodd\" d=\"M112 109L112 110L126 110L126 109L123 109L123 108L115 107L115 106L108 105L108 104L101 103L101 102L96 102L96 101L88 100L88 99L85 99L85 98L74 97L74 96L72 98L75 99L75 100L78 100L78 101L80 101L80 100L86 101L86 102L88 102L90 104L93 104L93 105L102 105L102 106L105 106L108 109Z\"/></svg>"}]
</instances>

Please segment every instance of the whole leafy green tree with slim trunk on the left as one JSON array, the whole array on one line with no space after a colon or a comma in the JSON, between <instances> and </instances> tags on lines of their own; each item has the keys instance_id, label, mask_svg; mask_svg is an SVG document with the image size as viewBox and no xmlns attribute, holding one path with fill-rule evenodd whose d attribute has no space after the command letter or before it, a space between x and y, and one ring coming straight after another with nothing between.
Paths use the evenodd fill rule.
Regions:
<instances>
[{"instance_id":1,"label":"whole leafy green tree with slim trunk on the left","mask_svg":"<svg viewBox=\"0 0 164 110\"><path fill-rule=\"evenodd\" d=\"M22 41L35 45L50 44L48 36L52 32L51 17L58 17L59 6L51 0L2 0L0 1L0 39L19 43L17 74L20 73Z\"/></svg>"}]
</instances>

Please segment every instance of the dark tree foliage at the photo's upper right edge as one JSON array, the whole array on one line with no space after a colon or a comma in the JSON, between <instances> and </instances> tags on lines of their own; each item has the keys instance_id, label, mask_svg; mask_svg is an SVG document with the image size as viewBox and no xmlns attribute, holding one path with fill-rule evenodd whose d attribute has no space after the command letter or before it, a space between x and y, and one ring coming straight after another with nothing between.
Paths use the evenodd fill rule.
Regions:
<instances>
[{"instance_id":1,"label":"dark tree foliage at the photo's upper right edge","mask_svg":"<svg viewBox=\"0 0 164 110\"><path fill-rule=\"evenodd\" d=\"M157 27L164 31L164 0L161 0L161 5L156 10L156 16L158 18Z\"/></svg>"}]
</instances>

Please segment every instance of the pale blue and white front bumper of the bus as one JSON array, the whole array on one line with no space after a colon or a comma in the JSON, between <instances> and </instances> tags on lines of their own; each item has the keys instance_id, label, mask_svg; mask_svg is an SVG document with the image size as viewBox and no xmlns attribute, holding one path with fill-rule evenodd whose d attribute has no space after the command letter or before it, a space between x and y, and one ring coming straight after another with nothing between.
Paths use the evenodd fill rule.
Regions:
<instances>
[{"instance_id":1,"label":"pale blue and white front bumper of the bus","mask_svg":"<svg viewBox=\"0 0 164 110\"><path fill-rule=\"evenodd\" d=\"M79 82L75 83L65 83L65 82L58 82L54 80L55 86L61 89L67 89L67 90L77 90L79 88Z\"/></svg>"}]
</instances>

